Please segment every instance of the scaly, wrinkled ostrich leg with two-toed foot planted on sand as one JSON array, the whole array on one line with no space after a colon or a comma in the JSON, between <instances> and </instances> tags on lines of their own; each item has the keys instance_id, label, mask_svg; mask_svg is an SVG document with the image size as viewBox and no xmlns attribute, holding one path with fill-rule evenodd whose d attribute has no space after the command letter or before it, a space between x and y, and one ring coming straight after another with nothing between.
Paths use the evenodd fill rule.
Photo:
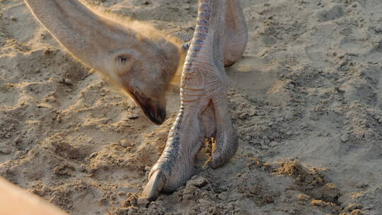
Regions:
<instances>
[{"instance_id":1,"label":"scaly, wrinkled ostrich leg with two-toed foot planted on sand","mask_svg":"<svg viewBox=\"0 0 382 215\"><path fill-rule=\"evenodd\" d=\"M173 192L184 185L195 174L194 159L204 136L216 134L216 149L209 163L212 168L226 163L238 149L226 98L227 1L231 0L199 0L197 26L180 81L180 112L168 134L166 148L151 168L141 199L152 201L159 192Z\"/></svg>"}]
</instances>

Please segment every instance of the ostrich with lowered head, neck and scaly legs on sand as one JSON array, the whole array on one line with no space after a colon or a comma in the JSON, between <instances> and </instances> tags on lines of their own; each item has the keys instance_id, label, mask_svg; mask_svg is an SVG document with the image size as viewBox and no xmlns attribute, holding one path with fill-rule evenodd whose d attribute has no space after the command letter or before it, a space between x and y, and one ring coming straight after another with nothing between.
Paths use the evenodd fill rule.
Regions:
<instances>
[{"instance_id":1,"label":"ostrich with lowered head, neck and scaly legs on sand","mask_svg":"<svg viewBox=\"0 0 382 215\"><path fill-rule=\"evenodd\" d=\"M239 0L199 0L188 46L146 23L104 16L79 0L25 2L66 50L128 93L155 124L166 119L165 92L183 66L180 111L142 199L172 192L195 174L193 161L204 136L216 139L212 168L236 152L238 136L228 115L224 66L242 57L248 40Z\"/></svg>"}]
</instances>

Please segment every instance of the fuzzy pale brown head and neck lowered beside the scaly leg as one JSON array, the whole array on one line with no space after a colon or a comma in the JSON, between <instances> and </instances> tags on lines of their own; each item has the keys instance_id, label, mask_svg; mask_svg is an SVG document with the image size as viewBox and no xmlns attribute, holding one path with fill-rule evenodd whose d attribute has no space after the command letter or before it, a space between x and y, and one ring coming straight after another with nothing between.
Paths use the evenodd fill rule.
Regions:
<instances>
[{"instance_id":1,"label":"fuzzy pale brown head and neck lowered beside the scaly leg","mask_svg":"<svg viewBox=\"0 0 382 215\"><path fill-rule=\"evenodd\" d=\"M152 122L165 120L165 91L183 59L180 42L146 23L103 16L77 0L25 2L74 57L131 95Z\"/></svg>"}]
</instances>

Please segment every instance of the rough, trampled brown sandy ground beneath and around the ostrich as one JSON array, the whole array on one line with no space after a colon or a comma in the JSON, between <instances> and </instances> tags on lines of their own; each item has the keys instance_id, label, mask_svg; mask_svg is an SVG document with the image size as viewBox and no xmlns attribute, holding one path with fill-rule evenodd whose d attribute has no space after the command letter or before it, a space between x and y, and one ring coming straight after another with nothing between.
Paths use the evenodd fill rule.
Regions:
<instances>
[{"instance_id":1,"label":"rough, trampled brown sandy ground beneath and around the ostrich","mask_svg":"<svg viewBox=\"0 0 382 215\"><path fill-rule=\"evenodd\" d=\"M178 108L151 124L21 0L0 0L0 175L71 214L382 214L382 1L243 0L224 167L137 204ZM191 37L196 1L88 0ZM148 62L149 63L149 62Z\"/></svg>"}]
</instances>

